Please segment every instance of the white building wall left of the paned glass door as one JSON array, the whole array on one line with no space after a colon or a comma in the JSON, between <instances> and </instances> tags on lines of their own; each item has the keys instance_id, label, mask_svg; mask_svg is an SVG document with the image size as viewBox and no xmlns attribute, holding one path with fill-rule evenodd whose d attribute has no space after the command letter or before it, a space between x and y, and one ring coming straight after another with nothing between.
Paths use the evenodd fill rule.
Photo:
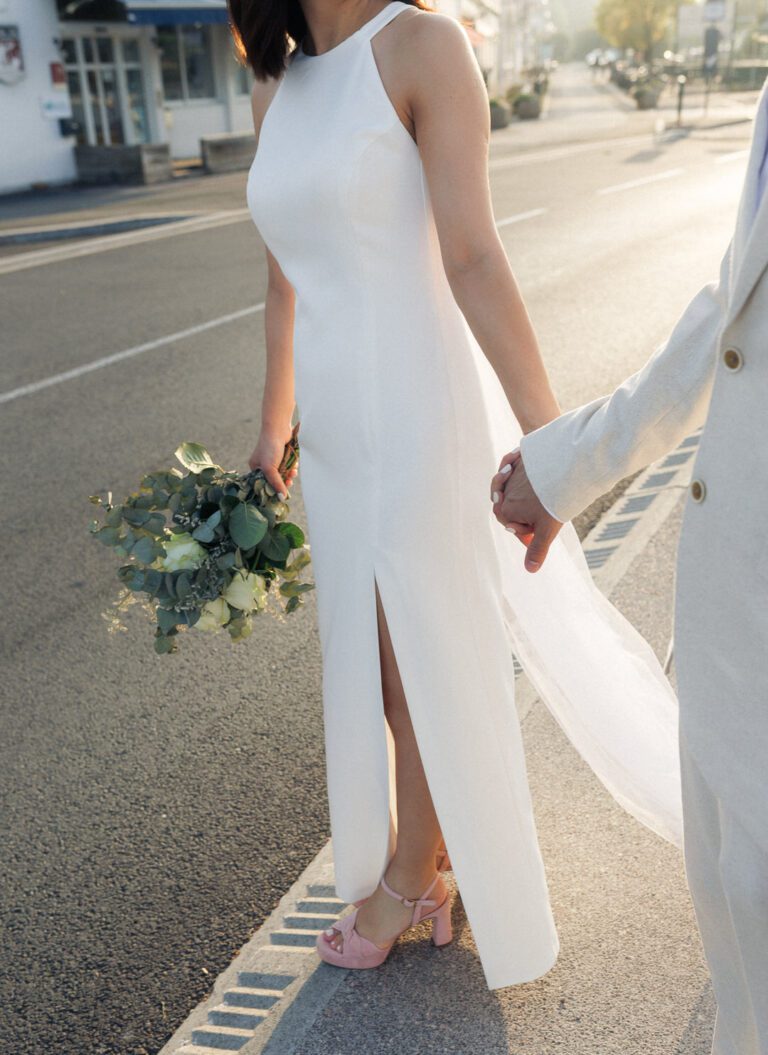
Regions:
<instances>
[{"instance_id":1,"label":"white building wall left of the paned glass door","mask_svg":"<svg viewBox=\"0 0 768 1055\"><path fill-rule=\"evenodd\" d=\"M0 25L18 25L25 68L18 83L0 83L0 193L74 179L74 140L40 109L45 98L68 98L51 83L50 63L60 61L56 2L0 0Z\"/></svg>"}]
</instances>

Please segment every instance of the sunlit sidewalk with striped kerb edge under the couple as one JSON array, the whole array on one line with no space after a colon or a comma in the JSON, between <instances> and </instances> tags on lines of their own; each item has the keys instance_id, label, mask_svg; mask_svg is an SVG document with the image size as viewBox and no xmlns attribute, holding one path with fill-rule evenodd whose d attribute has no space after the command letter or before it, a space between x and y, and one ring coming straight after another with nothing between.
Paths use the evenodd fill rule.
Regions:
<instances>
[{"instance_id":1,"label":"sunlit sidewalk with striped kerb edge under the couple","mask_svg":"<svg viewBox=\"0 0 768 1055\"><path fill-rule=\"evenodd\" d=\"M602 565L601 588L661 659L690 473L676 466L690 465L696 442L634 481L585 542L590 564ZM245 947L160 1055L214 1055L225 1043L242 1055L709 1055L714 1004L679 852L609 798L524 683L518 709L561 941L550 974L488 992L458 898L449 946L434 948L422 927L376 971L320 963L318 932L301 928L323 920L296 914L341 908L329 901L324 909L323 898L333 894L328 845L315 862L314 885L296 884L263 928L283 929ZM222 1037L227 1004L267 992L232 985L284 993L269 997L272 1009L255 1013L264 1017L250 1030L225 1029Z\"/></svg>"}]
</instances>

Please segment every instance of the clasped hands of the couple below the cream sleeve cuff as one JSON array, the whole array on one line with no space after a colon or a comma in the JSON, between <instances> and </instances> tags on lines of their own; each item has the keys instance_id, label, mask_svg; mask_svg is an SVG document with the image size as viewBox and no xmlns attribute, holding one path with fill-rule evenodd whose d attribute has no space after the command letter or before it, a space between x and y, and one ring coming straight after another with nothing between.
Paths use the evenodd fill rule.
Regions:
<instances>
[{"instance_id":1,"label":"clasped hands of the couple below the cream sleeve cuff","mask_svg":"<svg viewBox=\"0 0 768 1055\"><path fill-rule=\"evenodd\" d=\"M539 501L519 450L501 459L499 472L491 481L491 501L499 523L526 548L526 571L538 572L562 524Z\"/></svg>"}]
</instances>

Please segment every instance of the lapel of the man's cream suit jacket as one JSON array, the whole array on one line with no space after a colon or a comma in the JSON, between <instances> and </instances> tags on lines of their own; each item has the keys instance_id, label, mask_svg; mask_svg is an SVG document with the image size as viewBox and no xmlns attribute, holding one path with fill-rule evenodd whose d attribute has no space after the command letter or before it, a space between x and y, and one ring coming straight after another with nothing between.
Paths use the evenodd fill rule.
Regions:
<instances>
[{"instance_id":1,"label":"lapel of the man's cream suit jacket","mask_svg":"<svg viewBox=\"0 0 768 1055\"><path fill-rule=\"evenodd\" d=\"M763 90L752 136L752 149L738 206L733 238L733 274L729 314L735 318L768 266L768 189L757 202L760 170L768 142L768 85Z\"/></svg>"}]
</instances>

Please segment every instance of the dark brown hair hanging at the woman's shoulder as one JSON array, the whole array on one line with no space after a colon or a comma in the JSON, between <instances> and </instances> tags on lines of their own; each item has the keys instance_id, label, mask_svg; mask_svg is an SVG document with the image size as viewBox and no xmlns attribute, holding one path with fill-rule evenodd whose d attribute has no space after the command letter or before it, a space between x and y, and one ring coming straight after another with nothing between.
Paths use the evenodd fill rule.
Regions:
<instances>
[{"instance_id":1,"label":"dark brown hair hanging at the woman's shoulder","mask_svg":"<svg viewBox=\"0 0 768 1055\"><path fill-rule=\"evenodd\" d=\"M406 0L429 11L426 0ZM227 0L237 58L258 80L280 77L291 43L307 35L307 20L299 0Z\"/></svg>"}]
</instances>

